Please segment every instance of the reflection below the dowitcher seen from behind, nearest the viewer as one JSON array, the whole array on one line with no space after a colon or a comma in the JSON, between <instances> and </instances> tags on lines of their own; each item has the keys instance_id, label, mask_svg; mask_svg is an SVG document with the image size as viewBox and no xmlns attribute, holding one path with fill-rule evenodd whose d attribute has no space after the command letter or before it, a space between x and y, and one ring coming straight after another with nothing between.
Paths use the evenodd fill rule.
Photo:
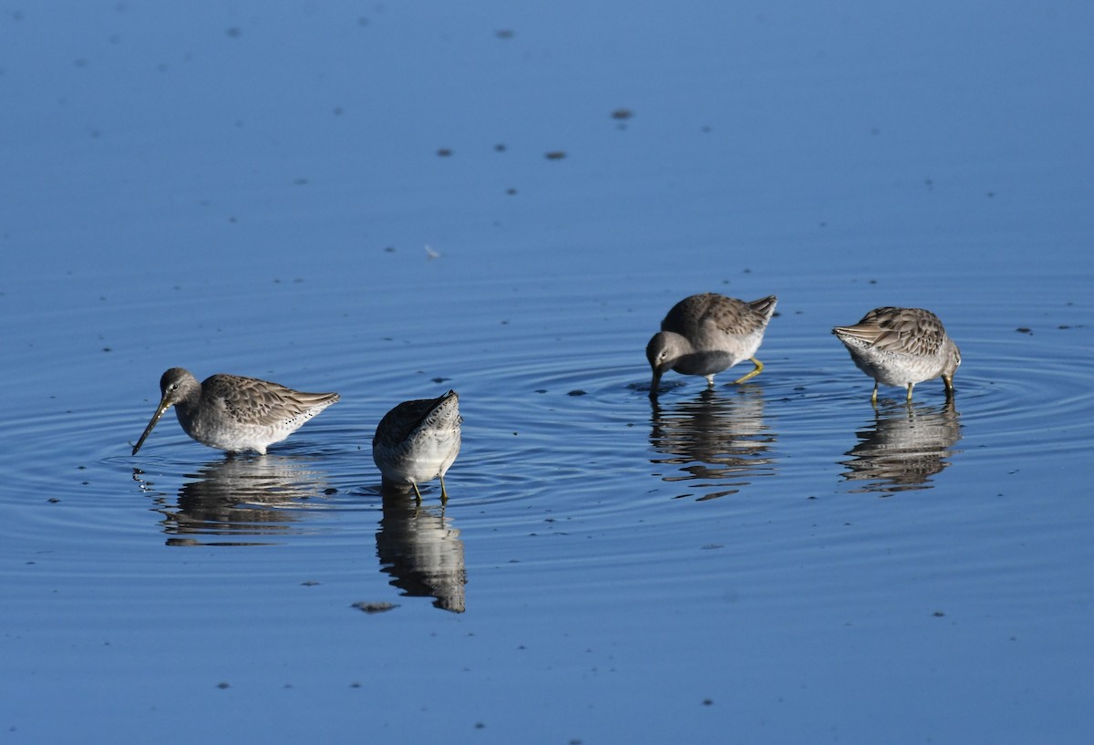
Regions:
<instances>
[{"instance_id":1,"label":"reflection below the dowitcher seen from behind, nearest the viewer","mask_svg":"<svg viewBox=\"0 0 1094 745\"><path fill-rule=\"evenodd\" d=\"M383 499L376 555L391 584L408 597L432 597L434 607L463 613L464 542L444 507L417 505L403 491L385 491Z\"/></svg>"}]
</instances>

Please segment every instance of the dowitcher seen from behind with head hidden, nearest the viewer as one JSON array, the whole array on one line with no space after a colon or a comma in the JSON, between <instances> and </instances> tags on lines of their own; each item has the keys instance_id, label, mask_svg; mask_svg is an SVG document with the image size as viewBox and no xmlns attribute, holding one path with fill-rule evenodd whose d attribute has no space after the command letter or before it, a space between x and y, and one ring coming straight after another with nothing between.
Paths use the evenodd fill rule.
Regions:
<instances>
[{"instance_id":1,"label":"dowitcher seen from behind with head hidden, nearest the viewer","mask_svg":"<svg viewBox=\"0 0 1094 745\"><path fill-rule=\"evenodd\" d=\"M403 401L384 415L372 438L372 459L385 488L406 489L409 484L421 501L418 485L441 479L441 501L449 493L444 475L459 454L459 396L449 391L437 398Z\"/></svg>"}]
</instances>

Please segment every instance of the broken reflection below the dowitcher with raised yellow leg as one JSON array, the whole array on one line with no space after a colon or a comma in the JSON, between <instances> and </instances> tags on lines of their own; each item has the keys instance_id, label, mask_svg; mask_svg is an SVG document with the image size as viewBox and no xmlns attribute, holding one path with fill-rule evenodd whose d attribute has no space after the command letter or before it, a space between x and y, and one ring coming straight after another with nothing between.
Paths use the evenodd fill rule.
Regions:
<instances>
[{"instance_id":1,"label":"broken reflection below the dowitcher with raised yellow leg","mask_svg":"<svg viewBox=\"0 0 1094 745\"><path fill-rule=\"evenodd\" d=\"M776 434L764 424L764 393L758 387L723 393L707 388L691 400L653 404L650 444L667 457L655 466L678 466L660 475L668 482L691 482L676 499L699 500L735 494L757 477L775 475L770 454Z\"/></svg>"}]
</instances>

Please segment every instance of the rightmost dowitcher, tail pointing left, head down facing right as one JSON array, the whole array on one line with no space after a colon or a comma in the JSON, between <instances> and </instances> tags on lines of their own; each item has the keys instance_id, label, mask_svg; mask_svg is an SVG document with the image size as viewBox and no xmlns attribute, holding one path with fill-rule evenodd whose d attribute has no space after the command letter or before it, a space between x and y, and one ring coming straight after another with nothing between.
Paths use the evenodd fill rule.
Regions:
<instances>
[{"instance_id":1,"label":"rightmost dowitcher, tail pointing left, head down facing right","mask_svg":"<svg viewBox=\"0 0 1094 745\"><path fill-rule=\"evenodd\" d=\"M882 383L907 386L910 401L916 383L941 376L946 384L946 397L953 396L961 350L930 311L875 307L853 326L837 326L831 333L847 347L859 370L874 379L870 400L875 406L877 386Z\"/></svg>"}]
</instances>

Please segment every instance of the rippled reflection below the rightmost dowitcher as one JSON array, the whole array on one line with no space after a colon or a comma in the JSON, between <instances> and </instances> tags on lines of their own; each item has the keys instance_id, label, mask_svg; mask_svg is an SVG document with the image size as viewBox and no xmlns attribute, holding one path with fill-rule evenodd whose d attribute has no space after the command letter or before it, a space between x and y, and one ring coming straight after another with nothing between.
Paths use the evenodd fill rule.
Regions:
<instances>
[{"instance_id":1,"label":"rippled reflection below the rightmost dowitcher","mask_svg":"<svg viewBox=\"0 0 1094 745\"><path fill-rule=\"evenodd\" d=\"M939 406L894 404L878 409L874 423L856 433L859 443L843 461L843 478L856 484L852 493L878 492L887 497L898 491L930 489L931 477L950 465L961 440L961 415L954 401Z\"/></svg>"}]
</instances>

